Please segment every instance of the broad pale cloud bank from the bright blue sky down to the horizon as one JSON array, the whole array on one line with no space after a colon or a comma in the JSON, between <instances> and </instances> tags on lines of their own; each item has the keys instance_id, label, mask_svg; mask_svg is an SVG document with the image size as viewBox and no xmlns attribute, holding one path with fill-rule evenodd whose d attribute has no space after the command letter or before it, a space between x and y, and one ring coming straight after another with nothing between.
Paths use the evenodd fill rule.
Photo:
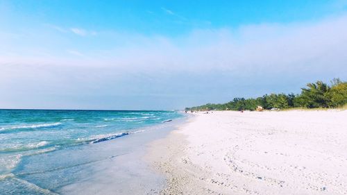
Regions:
<instances>
[{"instance_id":1,"label":"broad pale cloud bank from the bright blue sky down to the horizon","mask_svg":"<svg viewBox=\"0 0 347 195\"><path fill-rule=\"evenodd\" d=\"M33 46L16 54L22 38L30 39L0 33L0 91L6 91L0 103L8 108L94 108L105 102L103 108L162 109L299 92L318 79L346 80L345 24L347 16L340 16L196 29L175 38L98 32L96 41L78 44L57 36L49 37L52 50L45 49L47 40L36 44L50 54L45 56Z\"/></svg>"}]
</instances>

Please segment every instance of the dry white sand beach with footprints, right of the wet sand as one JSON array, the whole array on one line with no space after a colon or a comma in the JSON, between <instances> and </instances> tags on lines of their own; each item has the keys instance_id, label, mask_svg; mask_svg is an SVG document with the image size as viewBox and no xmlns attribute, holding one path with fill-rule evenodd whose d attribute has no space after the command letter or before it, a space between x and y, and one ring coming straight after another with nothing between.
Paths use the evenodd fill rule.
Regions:
<instances>
[{"instance_id":1,"label":"dry white sand beach with footprints, right of the wet sand","mask_svg":"<svg viewBox=\"0 0 347 195\"><path fill-rule=\"evenodd\" d=\"M162 194L347 194L347 111L198 113L147 159Z\"/></svg>"}]
</instances>

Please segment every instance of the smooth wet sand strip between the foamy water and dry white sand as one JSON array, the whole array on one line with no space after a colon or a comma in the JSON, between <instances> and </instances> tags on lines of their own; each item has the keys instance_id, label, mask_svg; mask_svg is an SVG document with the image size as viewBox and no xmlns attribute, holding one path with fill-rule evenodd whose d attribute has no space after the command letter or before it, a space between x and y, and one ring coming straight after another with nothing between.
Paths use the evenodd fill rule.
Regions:
<instances>
[{"instance_id":1,"label":"smooth wet sand strip between the foamy water and dry white sand","mask_svg":"<svg viewBox=\"0 0 347 195\"><path fill-rule=\"evenodd\" d=\"M92 179L65 186L59 190L62 194L159 194L165 185L165 178L151 169L144 160L149 143L166 137L184 118L169 123L146 127L142 133L136 133L100 142L99 152L108 155L119 154L94 167ZM96 171L95 171L96 168Z\"/></svg>"}]
</instances>

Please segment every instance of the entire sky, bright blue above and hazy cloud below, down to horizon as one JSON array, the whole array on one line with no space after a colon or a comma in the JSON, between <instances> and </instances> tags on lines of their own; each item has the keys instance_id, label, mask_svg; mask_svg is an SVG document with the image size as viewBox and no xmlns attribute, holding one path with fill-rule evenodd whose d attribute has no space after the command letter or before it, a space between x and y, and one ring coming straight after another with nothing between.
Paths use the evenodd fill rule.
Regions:
<instances>
[{"instance_id":1,"label":"entire sky, bright blue above and hazy cloud below, down to horizon","mask_svg":"<svg viewBox=\"0 0 347 195\"><path fill-rule=\"evenodd\" d=\"M347 80L347 1L0 0L0 108L174 110Z\"/></svg>"}]
</instances>

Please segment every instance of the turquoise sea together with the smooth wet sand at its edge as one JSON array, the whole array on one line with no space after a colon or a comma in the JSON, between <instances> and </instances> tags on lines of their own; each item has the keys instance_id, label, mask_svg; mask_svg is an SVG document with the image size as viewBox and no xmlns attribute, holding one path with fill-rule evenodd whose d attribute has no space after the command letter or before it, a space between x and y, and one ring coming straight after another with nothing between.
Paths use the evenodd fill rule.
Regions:
<instances>
[{"instance_id":1,"label":"turquoise sea together with the smooth wet sand at its edge","mask_svg":"<svg viewBox=\"0 0 347 195\"><path fill-rule=\"evenodd\" d=\"M182 117L174 111L0 110L0 194L151 194L163 179L139 158Z\"/></svg>"}]
</instances>

